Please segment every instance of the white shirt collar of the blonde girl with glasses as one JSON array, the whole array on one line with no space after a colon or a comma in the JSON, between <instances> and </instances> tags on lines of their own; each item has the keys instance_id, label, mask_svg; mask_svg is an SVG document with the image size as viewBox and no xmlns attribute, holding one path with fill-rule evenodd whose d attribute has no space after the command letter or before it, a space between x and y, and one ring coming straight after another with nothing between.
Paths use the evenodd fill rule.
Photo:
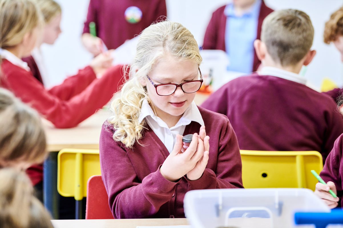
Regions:
<instances>
[{"instance_id":1,"label":"white shirt collar of the blonde girl with glasses","mask_svg":"<svg viewBox=\"0 0 343 228\"><path fill-rule=\"evenodd\" d=\"M166 127L168 128L168 125L158 116L156 116L150 107L149 103L147 100L144 100L142 102L142 107L141 107L141 113L138 118L138 122L141 123L143 119L147 116L151 116L151 118L158 123L159 126L161 127ZM177 124L174 127L171 127L170 129L173 129L178 126L186 126L190 124L192 121L199 123L200 125L205 125L204 120L202 119L202 116L200 114L200 111L198 109L198 106L195 104L193 101L191 105L186 109L184 115L179 119Z\"/></svg>"}]
</instances>

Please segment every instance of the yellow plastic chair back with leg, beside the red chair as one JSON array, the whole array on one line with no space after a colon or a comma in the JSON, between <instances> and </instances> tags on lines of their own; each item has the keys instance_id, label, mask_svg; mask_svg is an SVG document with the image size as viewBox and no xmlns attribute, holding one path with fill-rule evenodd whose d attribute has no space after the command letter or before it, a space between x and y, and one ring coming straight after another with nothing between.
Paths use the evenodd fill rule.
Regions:
<instances>
[{"instance_id":1,"label":"yellow plastic chair back with leg, beside the red chair","mask_svg":"<svg viewBox=\"0 0 343 228\"><path fill-rule=\"evenodd\" d=\"M99 150L63 149L57 157L57 190L75 198L75 219L82 219L82 199L87 196L87 181L101 175Z\"/></svg>"}]
</instances>

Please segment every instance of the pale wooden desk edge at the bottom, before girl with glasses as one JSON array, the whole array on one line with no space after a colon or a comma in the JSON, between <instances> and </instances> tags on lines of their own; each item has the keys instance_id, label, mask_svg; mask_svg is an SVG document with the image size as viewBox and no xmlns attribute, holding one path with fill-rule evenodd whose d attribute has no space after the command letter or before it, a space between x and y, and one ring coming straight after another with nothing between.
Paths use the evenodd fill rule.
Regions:
<instances>
[{"instance_id":1,"label":"pale wooden desk edge at the bottom, before girl with glasses","mask_svg":"<svg viewBox=\"0 0 343 228\"><path fill-rule=\"evenodd\" d=\"M189 225L186 218L51 220L55 228L136 228Z\"/></svg>"}]
</instances>

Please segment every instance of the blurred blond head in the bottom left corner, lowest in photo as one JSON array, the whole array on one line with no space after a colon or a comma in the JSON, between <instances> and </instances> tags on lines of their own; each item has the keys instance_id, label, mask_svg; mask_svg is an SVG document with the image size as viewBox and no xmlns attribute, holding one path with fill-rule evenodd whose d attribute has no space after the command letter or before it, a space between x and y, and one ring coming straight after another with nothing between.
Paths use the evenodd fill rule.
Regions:
<instances>
[{"instance_id":1,"label":"blurred blond head in the bottom left corner, lowest in photo","mask_svg":"<svg viewBox=\"0 0 343 228\"><path fill-rule=\"evenodd\" d=\"M33 196L30 180L16 169L0 169L1 228L53 228L51 216Z\"/></svg>"}]
</instances>

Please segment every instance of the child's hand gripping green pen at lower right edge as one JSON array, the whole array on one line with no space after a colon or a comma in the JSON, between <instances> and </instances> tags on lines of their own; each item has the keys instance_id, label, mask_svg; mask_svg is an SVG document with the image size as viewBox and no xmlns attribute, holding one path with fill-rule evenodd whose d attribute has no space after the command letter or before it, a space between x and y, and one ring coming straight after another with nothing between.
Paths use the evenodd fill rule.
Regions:
<instances>
[{"instance_id":1,"label":"child's hand gripping green pen at lower right edge","mask_svg":"<svg viewBox=\"0 0 343 228\"><path fill-rule=\"evenodd\" d=\"M338 201L340 200L338 197L334 198L330 193L329 190L332 190L335 194L337 194L336 186L332 181L327 182L327 185L322 183L316 184L315 194L321 198L324 203L326 203L331 209L338 206Z\"/></svg>"}]
</instances>

